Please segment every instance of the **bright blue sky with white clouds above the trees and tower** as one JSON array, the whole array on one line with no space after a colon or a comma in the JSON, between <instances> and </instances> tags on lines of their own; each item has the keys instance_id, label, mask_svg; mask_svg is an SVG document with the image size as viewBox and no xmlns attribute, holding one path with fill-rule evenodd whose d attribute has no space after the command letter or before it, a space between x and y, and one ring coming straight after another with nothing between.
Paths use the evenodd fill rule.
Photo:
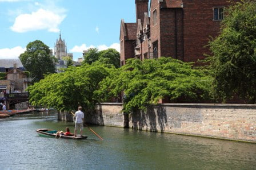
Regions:
<instances>
[{"instance_id":1,"label":"bright blue sky with white clouds above the trees and tower","mask_svg":"<svg viewBox=\"0 0 256 170\"><path fill-rule=\"evenodd\" d=\"M35 40L54 49L60 31L74 61L91 47L120 51L121 19L135 22L134 0L0 0L0 59L18 58Z\"/></svg>"}]
</instances>

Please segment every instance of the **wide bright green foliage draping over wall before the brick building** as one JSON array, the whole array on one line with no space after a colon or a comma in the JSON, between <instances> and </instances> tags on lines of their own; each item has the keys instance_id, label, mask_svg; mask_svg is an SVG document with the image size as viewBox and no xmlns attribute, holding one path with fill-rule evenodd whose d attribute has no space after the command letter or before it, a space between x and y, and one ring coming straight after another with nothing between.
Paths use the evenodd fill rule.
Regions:
<instances>
[{"instance_id":1,"label":"wide bright green foliage draping over wall before the brick building","mask_svg":"<svg viewBox=\"0 0 256 170\"><path fill-rule=\"evenodd\" d=\"M192 69L191 63L183 63L171 57L151 60L127 60L126 65L111 72L95 91L96 96L107 101L125 93L124 109L145 109L159 99L193 99L202 101L209 94L211 77L199 69Z\"/></svg>"}]
</instances>

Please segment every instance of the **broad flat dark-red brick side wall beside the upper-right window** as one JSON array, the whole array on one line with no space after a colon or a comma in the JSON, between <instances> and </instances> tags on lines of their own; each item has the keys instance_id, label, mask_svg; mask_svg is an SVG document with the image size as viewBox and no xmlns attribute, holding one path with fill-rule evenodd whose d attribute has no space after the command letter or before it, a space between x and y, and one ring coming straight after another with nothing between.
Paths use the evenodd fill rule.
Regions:
<instances>
[{"instance_id":1,"label":"broad flat dark-red brick side wall beside the upper-right window","mask_svg":"<svg viewBox=\"0 0 256 170\"><path fill-rule=\"evenodd\" d=\"M220 21L213 21L213 7L227 7L229 1L223 0L183 0L184 23L184 61L203 59L204 53L209 54L205 47L210 40L218 35Z\"/></svg>"}]
</instances>

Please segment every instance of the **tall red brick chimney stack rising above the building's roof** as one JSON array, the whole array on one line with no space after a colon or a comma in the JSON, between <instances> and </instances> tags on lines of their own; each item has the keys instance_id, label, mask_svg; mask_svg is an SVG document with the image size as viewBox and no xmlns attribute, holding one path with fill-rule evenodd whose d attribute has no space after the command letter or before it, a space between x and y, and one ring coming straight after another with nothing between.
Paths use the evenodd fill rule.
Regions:
<instances>
[{"instance_id":1,"label":"tall red brick chimney stack rising above the building's roof","mask_svg":"<svg viewBox=\"0 0 256 170\"><path fill-rule=\"evenodd\" d=\"M141 23L143 24L144 13L149 12L149 0L135 0L136 4L136 22L138 19L141 19Z\"/></svg>"}]
</instances>

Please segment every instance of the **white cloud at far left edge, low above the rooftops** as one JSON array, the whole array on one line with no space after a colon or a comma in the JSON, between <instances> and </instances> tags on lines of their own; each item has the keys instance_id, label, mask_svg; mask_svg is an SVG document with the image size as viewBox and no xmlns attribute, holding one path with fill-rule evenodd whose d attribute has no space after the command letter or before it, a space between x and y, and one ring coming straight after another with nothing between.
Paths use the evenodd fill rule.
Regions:
<instances>
[{"instance_id":1,"label":"white cloud at far left edge, low above the rooftops","mask_svg":"<svg viewBox=\"0 0 256 170\"><path fill-rule=\"evenodd\" d=\"M2 48L0 49L0 59L17 59L21 53L25 52L26 48L17 46L14 48Z\"/></svg>"}]
</instances>

